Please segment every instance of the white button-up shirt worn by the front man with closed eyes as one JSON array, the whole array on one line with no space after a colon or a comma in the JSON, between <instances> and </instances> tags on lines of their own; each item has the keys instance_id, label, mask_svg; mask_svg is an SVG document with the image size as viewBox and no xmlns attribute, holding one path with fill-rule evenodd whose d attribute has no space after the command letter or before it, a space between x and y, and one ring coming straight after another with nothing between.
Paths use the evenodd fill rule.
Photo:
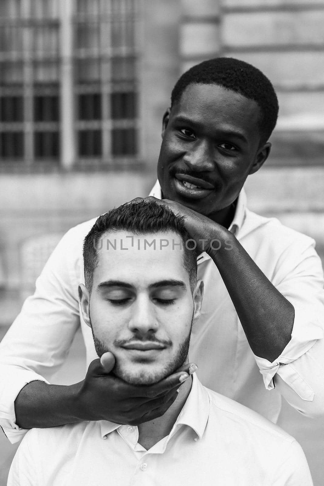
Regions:
<instances>
[{"instance_id":1,"label":"white button-up shirt worn by the front man with closed eyes","mask_svg":"<svg viewBox=\"0 0 324 486\"><path fill-rule=\"evenodd\" d=\"M148 451L137 441L137 427L104 420L33 429L7 486L313 484L295 439L195 376L169 436Z\"/></svg>"}]
</instances>

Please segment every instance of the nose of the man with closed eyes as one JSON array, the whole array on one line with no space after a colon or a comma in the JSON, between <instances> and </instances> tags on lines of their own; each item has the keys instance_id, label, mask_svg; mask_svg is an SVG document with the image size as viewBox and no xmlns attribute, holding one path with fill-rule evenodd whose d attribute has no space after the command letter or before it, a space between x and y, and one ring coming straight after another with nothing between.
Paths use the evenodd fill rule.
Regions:
<instances>
[{"instance_id":1,"label":"nose of the man with closed eyes","mask_svg":"<svg viewBox=\"0 0 324 486\"><path fill-rule=\"evenodd\" d=\"M153 307L153 303L148 297L137 297L128 324L132 332L145 334L158 330L158 322Z\"/></svg>"}]
</instances>

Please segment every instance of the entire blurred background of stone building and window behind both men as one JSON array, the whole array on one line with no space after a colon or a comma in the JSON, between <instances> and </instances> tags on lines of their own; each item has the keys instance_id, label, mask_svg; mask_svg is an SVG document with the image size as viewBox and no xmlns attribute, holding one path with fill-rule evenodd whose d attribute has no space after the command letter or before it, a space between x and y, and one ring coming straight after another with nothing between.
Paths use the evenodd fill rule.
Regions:
<instances>
[{"instance_id":1,"label":"entire blurred background of stone building and window behind both men","mask_svg":"<svg viewBox=\"0 0 324 486\"><path fill-rule=\"evenodd\" d=\"M231 56L261 69L280 105L249 208L324 257L324 1L0 0L0 339L61 236L156 178L171 89ZM57 383L84 377L77 334ZM324 484L324 420L283 404L280 425ZM0 434L0 486L17 446Z\"/></svg>"}]
</instances>

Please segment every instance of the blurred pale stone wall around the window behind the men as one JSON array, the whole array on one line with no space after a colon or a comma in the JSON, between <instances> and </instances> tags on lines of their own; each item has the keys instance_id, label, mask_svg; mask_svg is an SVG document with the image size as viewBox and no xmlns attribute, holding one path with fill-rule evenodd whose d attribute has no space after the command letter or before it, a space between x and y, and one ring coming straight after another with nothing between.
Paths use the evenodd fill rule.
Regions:
<instances>
[{"instance_id":1,"label":"blurred pale stone wall around the window behind the men","mask_svg":"<svg viewBox=\"0 0 324 486\"><path fill-rule=\"evenodd\" d=\"M234 56L269 76L280 116L272 155L246 183L249 207L313 236L324 250L323 1L143 0L139 60L145 171L0 174L0 324L21 304L21 246L150 190L161 123L178 76L209 57Z\"/></svg>"}]
</instances>

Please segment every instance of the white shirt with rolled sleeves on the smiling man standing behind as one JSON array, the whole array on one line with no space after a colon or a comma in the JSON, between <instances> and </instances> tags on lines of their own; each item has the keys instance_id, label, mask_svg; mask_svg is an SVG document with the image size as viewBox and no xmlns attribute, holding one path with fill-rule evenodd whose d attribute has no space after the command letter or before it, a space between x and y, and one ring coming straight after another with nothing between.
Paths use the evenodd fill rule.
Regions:
<instances>
[{"instance_id":1,"label":"white shirt with rolled sleeves on the smiling man standing behind","mask_svg":"<svg viewBox=\"0 0 324 486\"><path fill-rule=\"evenodd\" d=\"M158 182L151 195L161 198ZM0 425L13 443L26 433L15 423L14 400L26 383L50 380L80 322L87 365L97 358L91 330L80 319L77 295L84 282L83 240L94 222L75 226L63 237L36 281L35 294L0 343ZM205 386L273 422L281 395L308 416L323 415L324 279L314 240L249 211L243 190L229 229L294 306L292 337L273 363L256 357L219 271L204 253L198 257L198 278L205 283L202 315L192 330L189 360L198 364Z\"/></svg>"}]
</instances>

